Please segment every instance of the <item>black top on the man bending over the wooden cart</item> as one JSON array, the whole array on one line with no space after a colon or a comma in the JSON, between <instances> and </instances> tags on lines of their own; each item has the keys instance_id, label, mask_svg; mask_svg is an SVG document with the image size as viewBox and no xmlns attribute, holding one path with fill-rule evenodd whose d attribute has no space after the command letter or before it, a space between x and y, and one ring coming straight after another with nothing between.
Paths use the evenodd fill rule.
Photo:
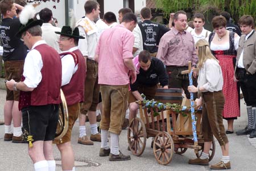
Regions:
<instances>
[{"instance_id":1,"label":"black top on the man bending over the wooden cart","mask_svg":"<svg viewBox=\"0 0 256 171\"><path fill-rule=\"evenodd\" d=\"M131 91L137 91L140 85L146 87L155 86L160 82L160 85L168 85L168 75L166 73L166 68L164 64L159 59L152 57L150 68L144 71L142 68L139 69L139 74L137 74L137 79L134 84L131 84Z\"/></svg>"}]
</instances>

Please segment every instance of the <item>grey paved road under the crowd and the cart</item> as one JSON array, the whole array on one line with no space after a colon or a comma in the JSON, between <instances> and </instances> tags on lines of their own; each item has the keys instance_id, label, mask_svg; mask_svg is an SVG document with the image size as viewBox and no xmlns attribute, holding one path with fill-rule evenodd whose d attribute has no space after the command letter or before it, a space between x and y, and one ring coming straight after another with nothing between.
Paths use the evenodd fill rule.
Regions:
<instances>
[{"instance_id":1,"label":"grey paved road under the crowd and the cart","mask_svg":"<svg viewBox=\"0 0 256 171\"><path fill-rule=\"evenodd\" d=\"M5 91L0 90L0 120L3 119L3 104L5 102ZM241 101L243 104L243 100ZM241 118L234 123L234 129L239 130L245 127L247 116L245 115L245 105L241 108ZM225 122L226 126L226 122ZM87 126L89 131L89 126ZM131 156L130 161L108 161L108 157L99 157L100 143L86 146L77 144L79 136L79 124L76 122L72 132L72 145L75 151L76 170L209 170L209 166L197 166L187 164L188 160L195 157L195 153L188 149L183 155L174 155L170 164L163 166L156 162L154 153L150 148L151 140L147 139L146 149L141 157ZM88 132L89 134L89 132ZM26 144L13 144L3 141L4 126L0 126L0 170L33 170L33 165L27 155ZM256 139L251 139L251 145L246 136L228 135L230 141L230 157L232 162L231 170L255 170L256 168ZM120 136L121 151L127 151L127 130L122 131ZM210 164L214 164L221 159L220 146L216 141L216 154ZM55 159L60 159L60 153L54 147ZM59 161L56 161L60 163ZM56 170L61 170L57 165Z\"/></svg>"}]
</instances>

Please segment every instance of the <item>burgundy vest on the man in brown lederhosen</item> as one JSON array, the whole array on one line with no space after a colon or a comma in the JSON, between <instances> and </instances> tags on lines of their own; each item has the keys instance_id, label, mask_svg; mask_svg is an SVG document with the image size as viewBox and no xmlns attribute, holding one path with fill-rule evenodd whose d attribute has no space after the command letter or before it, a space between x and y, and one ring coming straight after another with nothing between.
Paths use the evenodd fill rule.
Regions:
<instances>
[{"instance_id":1,"label":"burgundy vest on the man in brown lederhosen","mask_svg":"<svg viewBox=\"0 0 256 171\"><path fill-rule=\"evenodd\" d=\"M86 77L86 64L85 58L82 56L82 53L79 49L73 51L76 57L78 58L78 68L73 74L69 84L61 87L65 95L67 105L74 105L78 102L84 102L84 83ZM75 62L76 63L76 62Z\"/></svg>"}]
</instances>

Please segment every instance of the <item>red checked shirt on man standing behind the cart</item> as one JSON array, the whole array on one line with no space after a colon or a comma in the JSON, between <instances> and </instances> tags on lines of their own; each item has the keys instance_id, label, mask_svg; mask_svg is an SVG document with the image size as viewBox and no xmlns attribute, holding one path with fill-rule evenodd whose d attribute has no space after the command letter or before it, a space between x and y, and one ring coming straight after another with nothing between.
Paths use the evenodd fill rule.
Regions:
<instances>
[{"instance_id":1,"label":"red checked shirt on man standing behind the cart","mask_svg":"<svg viewBox=\"0 0 256 171\"><path fill-rule=\"evenodd\" d=\"M198 57L192 35L172 28L161 38L156 57L166 66L188 66L188 61L196 65Z\"/></svg>"}]
</instances>

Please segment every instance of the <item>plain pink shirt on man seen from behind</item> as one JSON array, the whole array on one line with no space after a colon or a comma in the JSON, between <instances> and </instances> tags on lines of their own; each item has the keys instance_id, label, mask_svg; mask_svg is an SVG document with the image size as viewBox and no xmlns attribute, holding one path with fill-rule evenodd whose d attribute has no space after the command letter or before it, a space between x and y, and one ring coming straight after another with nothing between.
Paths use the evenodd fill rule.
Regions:
<instances>
[{"instance_id":1,"label":"plain pink shirt on man seen from behind","mask_svg":"<svg viewBox=\"0 0 256 171\"><path fill-rule=\"evenodd\" d=\"M123 59L133 58L133 43L133 32L122 24L102 32L96 48L98 84L129 84L129 69Z\"/></svg>"}]
</instances>

